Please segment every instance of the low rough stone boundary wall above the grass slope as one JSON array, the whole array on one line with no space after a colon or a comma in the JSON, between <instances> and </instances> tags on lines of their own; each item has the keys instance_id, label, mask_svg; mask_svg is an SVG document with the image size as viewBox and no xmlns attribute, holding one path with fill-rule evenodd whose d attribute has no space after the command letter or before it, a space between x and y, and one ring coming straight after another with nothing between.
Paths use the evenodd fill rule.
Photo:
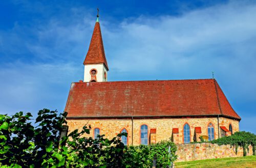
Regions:
<instances>
[{"instance_id":1,"label":"low rough stone boundary wall above the grass slope","mask_svg":"<svg viewBox=\"0 0 256 168\"><path fill-rule=\"evenodd\" d=\"M242 157L243 148L238 147L238 153L236 154L236 147L230 147L230 145L217 145L217 144L179 144L176 154L180 161L192 161L202 159L215 159L225 157ZM247 151L247 149L246 149ZM253 155L252 146L249 146L247 156Z\"/></svg>"}]
</instances>

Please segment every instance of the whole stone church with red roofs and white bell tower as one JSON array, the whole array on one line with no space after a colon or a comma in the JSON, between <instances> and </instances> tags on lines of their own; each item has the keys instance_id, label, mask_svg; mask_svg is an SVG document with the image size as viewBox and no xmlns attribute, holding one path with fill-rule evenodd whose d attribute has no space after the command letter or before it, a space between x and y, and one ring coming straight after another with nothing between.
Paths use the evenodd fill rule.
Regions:
<instances>
[{"instance_id":1,"label":"whole stone church with red roofs and white bell tower","mask_svg":"<svg viewBox=\"0 0 256 168\"><path fill-rule=\"evenodd\" d=\"M84 79L72 82L65 107L70 131L90 125L86 136L109 139L126 132L125 145L210 141L239 131L241 118L214 78L108 81L98 16L83 65Z\"/></svg>"}]
</instances>

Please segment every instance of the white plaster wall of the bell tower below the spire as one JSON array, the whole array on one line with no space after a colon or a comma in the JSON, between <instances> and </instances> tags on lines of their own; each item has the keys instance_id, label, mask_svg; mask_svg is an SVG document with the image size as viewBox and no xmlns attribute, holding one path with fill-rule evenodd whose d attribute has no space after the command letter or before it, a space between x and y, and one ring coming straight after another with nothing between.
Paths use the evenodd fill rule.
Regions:
<instances>
[{"instance_id":1,"label":"white plaster wall of the bell tower below the spire","mask_svg":"<svg viewBox=\"0 0 256 168\"><path fill-rule=\"evenodd\" d=\"M108 81L108 71L106 70L103 64L92 64L92 65L84 65L84 82L89 82L91 80L91 69L96 69L97 74L96 78L97 81ZM106 79L104 78L104 72L106 72Z\"/></svg>"}]
</instances>

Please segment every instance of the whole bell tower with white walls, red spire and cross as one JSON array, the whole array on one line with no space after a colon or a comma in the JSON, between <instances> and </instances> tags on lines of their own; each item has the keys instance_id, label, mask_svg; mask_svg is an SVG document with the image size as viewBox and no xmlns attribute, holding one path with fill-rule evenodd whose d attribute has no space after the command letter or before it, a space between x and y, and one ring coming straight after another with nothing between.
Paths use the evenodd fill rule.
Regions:
<instances>
[{"instance_id":1,"label":"whole bell tower with white walls, red spire and cross","mask_svg":"<svg viewBox=\"0 0 256 168\"><path fill-rule=\"evenodd\" d=\"M98 9L97 9L98 10ZM97 21L84 65L84 82L108 81L108 63L106 62L103 40L99 25L99 10Z\"/></svg>"}]
</instances>

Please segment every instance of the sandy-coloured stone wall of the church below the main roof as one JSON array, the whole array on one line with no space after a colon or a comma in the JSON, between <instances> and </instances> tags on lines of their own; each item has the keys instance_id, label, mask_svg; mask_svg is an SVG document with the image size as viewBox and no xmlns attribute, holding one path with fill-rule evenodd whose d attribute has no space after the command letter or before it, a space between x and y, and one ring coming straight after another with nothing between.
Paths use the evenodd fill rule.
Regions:
<instances>
[{"instance_id":1,"label":"sandy-coloured stone wall of the church below the main roof","mask_svg":"<svg viewBox=\"0 0 256 168\"><path fill-rule=\"evenodd\" d=\"M93 130L95 128L99 128L100 134L105 134L105 137L107 138L116 136L123 128L125 128L128 133L127 144L129 145L132 145L132 142L133 145L140 144L140 126L143 124L148 126L148 139L150 139L150 130L155 130L154 138L156 138L156 142L173 137L175 143L183 144L183 126L186 123L190 126L191 142L194 142L193 139L198 138L199 135L208 135L207 127L209 123L214 125L215 138L218 138L217 118L134 119L133 126L131 119L68 119L67 121L70 131L73 131L74 129L81 129L86 124L91 125L92 131L86 136L92 137L94 137ZM237 120L219 118L219 126L225 126L228 129L229 124L232 125L233 132L239 131L239 122ZM199 135L197 134L197 136L195 127L201 127L202 131ZM173 128L178 128L178 133L173 134Z\"/></svg>"}]
</instances>

